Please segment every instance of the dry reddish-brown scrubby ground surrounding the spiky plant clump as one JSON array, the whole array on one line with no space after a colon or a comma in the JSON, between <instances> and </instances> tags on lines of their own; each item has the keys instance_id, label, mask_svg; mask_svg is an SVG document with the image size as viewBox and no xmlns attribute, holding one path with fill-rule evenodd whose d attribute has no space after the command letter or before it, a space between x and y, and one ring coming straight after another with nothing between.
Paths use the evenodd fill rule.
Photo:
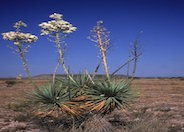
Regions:
<instances>
[{"instance_id":1,"label":"dry reddish-brown scrubby ground surrounding the spiky plant clump","mask_svg":"<svg viewBox=\"0 0 184 132\"><path fill-rule=\"evenodd\" d=\"M40 88L44 88L42 86L51 80L39 79L34 81L37 85L40 85ZM96 127L94 126L95 128L93 128L89 122L95 122L92 120L96 118L100 120L103 119L108 124L110 123L115 132L129 132L132 130L145 131L146 128L148 130L162 130L163 132L182 131L183 84L183 81L180 79L135 79L132 88L141 93L139 95L140 98L130 103L130 107L128 107L125 112L121 109L115 109L105 115L90 113L87 115L83 114L80 118L72 118L72 116L63 114L61 111L62 114L59 114L58 117L54 116L58 111L48 116L42 113L36 117L35 114L38 114L41 106L27 101L17 101L17 97L22 97L24 91L30 92L31 84L27 80L23 80L23 83L15 85L13 89L7 88L1 91L0 102L1 106L5 106L5 109L0 107L0 117L4 119L7 124L12 122L12 120L16 122L26 122L26 130L38 128L40 131L44 129L44 131L50 130L58 132L83 132L87 129L95 130ZM1 88L6 86L5 81L0 81L0 85ZM22 87L24 87L24 89ZM164 93L164 95L162 93ZM167 100L167 103L165 100ZM175 100L177 100L177 102ZM170 111L165 109L170 109ZM33 110L34 113L30 113ZM0 125L1 124L2 123L0 123Z\"/></svg>"}]
</instances>

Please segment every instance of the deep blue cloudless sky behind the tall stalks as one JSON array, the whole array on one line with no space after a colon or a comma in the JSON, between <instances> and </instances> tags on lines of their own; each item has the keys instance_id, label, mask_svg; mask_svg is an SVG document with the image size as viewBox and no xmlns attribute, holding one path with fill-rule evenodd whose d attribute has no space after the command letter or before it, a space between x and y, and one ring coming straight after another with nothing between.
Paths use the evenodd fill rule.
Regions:
<instances>
[{"instance_id":1,"label":"deep blue cloudless sky behind the tall stalks","mask_svg":"<svg viewBox=\"0 0 184 132\"><path fill-rule=\"evenodd\" d=\"M184 76L184 2L182 0L1 0L0 33L13 30L16 21L24 21L30 32L39 37L26 57L32 75L53 73L58 53L54 43L40 36L38 24L49 20L52 13L61 13L77 27L66 42L66 65L73 73L94 71L99 49L87 39L98 20L111 31L112 49L107 56L109 72L127 60L128 47L139 31L143 55L136 76ZM26 76L18 54L0 37L0 77ZM64 73L60 68L58 73ZM101 66L99 73L104 73ZM126 68L119 74L126 73Z\"/></svg>"}]
</instances>

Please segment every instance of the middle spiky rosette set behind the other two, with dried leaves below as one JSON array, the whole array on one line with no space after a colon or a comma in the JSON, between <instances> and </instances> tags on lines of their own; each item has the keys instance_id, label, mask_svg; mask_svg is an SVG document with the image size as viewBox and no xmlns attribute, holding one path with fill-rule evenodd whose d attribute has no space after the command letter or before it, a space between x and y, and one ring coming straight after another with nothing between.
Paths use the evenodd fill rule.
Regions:
<instances>
[{"instance_id":1,"label":"middle spiky rosette set behind the other two, with dried leaves below","mask_svg":"<svg viewBox=\"0 0 184 132\"><path fill-rule=\"evenodd\" d=\"M59 84L62 84L62 90L70 100L69 104L76 106L80 114L84 114L89 110L87 101L91 100L91 96L87 95L87 91L93 87L94 82L87 72L72 77L74 81L70 81L70 78L57 79L55 85L59 86Z\"/></svg>"}]
</instances>

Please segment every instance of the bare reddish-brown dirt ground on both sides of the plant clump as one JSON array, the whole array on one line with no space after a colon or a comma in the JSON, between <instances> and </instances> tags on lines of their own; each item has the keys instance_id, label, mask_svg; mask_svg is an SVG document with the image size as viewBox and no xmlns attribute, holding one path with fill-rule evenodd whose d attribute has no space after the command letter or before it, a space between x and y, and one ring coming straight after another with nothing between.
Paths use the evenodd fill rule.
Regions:
<instances>
[{"instance_id":1,"label":"bare reddish-brown dirt ground on both sides of the plant clump","mask_svg":"<svg viewBox=\"0 0 184 132\"><path fill-rule=\"evenodd\" d=\"M6 80L0 80L0 132L40 132L48 131L24 111L11 106L33 89L28 80L7 87ZM35 80L44 85L48 80ZM139 98L132 104L130 114L139 121L145 113L154 115L167 124L168 130L184 132L184 79L136 79L133 89ZM132 115L131 115L132 116Z\"/></svg>"}]
</instances>

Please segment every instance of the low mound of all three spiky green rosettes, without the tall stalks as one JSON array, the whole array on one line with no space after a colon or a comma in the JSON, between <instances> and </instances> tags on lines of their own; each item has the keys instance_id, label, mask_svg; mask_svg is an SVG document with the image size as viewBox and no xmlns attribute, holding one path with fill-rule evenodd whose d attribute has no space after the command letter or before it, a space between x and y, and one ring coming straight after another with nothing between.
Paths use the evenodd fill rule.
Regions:
<instances>
[{"instance_id":1,"label":"low mound of all three spiky green rosettes, without the tall stalks","mask_svg":"<svg viewBox=\"0 0 184 132\"><path fill-rule=\"evenodd\" d=\"M76 83L70 83L70 93L66 80L36 88L30 99L39 106L37 114L50 116L55 113L58 117L65 113L77 118L90 112L107 114L128 106L134 97L131 84L126 81L92 83L87 75L77 76L74 80Z\"/></svg>"}]
</instances>

